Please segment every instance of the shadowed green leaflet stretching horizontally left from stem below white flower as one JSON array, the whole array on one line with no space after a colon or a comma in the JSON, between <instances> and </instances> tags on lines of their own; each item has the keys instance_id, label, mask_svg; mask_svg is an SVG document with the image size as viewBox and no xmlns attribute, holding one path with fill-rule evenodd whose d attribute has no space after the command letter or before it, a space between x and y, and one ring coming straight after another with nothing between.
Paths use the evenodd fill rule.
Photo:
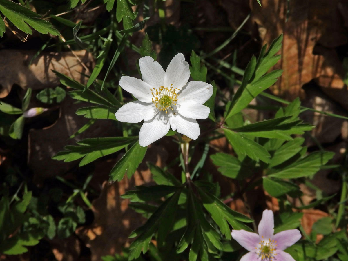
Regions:
<instances>
[{"instance_id":1,"label":"shadowed green leaflet stretching horizontally left from stem below white flower","mask_svg":"<svg viewBox=\"0 0 348 261\"><path fill-rule=\"evenodd\" d=\"M157 185L151 187L137 186L137 190L127 191L121 198L128 198L130 202L145 202L160 199L178 190L177 187Z\"/></svg>"}]
</instances>

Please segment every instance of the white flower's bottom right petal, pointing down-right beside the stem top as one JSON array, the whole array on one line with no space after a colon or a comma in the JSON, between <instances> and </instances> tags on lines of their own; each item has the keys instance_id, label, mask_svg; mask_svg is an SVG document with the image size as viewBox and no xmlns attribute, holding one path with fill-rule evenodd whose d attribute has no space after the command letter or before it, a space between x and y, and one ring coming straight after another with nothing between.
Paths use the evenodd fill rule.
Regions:
<instances>
[{"instance_id":1,"label":"white flower's bottom right petal, pointing down-right beside the stem top","mask_svg":"<svg viewBox=\"0 0 348 261\"><path fill-rule=\"evenodd\" d=\"M174 112L175 113L175 112ZM172 112L169 122L173 130L188 136L192 140L197 140L199 136L199 125L195 119L188 119L179 113Z\"/></svg>"}]
</instances>

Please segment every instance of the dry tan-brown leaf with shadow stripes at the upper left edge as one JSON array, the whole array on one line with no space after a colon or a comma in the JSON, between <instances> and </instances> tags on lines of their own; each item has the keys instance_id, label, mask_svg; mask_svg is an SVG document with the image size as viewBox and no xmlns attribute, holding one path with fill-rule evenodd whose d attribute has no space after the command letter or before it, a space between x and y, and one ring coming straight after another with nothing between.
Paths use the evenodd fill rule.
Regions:
<instances>
[{"instance_id":1,"label":"dry tan-brown leaf with shadow stripes at the upper left edge","mask_svg":"<svg viewBox=\"0 0 348 261\"><path fill-rule=\"evenodd\" d=\"M52 70L61 72L82 84L87 82L86 69L93 67L93 56L85 50L71 52L42 53L29 63L36 52L20 50L0 50L0 98L6 97L14 84L23 89L44 89L60 84L59 78ZM80 61L81 62L80 62ZM81 74L82 73L82 74Z\"/></svg>"}]
</instances>

